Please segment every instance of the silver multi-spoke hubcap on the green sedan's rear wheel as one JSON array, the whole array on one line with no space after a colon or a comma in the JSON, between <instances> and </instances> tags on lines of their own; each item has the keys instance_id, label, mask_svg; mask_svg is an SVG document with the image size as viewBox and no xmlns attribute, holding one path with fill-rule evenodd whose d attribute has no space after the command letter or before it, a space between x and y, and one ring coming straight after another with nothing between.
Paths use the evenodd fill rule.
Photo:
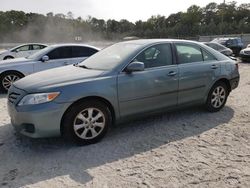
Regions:
<instances>
[{"instance_id":1,"label":"silver multi-spoke hubcap on the green sedan's rear wheel","mask_svg":"<svg viewBox=\"0 0 250 188\"><path fill-rule=\"evenodd\" d=\"M212 93L211 104L214 108L220 108L226 100L226 91L222 86L218 86Z\"/></svg>"}]
</instances>

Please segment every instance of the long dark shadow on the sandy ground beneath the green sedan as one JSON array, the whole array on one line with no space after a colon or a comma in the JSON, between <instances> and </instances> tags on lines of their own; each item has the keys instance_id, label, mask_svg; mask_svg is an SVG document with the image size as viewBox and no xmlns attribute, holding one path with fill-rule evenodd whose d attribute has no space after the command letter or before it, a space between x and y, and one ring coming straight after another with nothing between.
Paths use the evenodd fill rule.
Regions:
<instances>
[{"instance_id":1,"label":"long dark shadow on the sandy ground beneath the green sedan","mask_svg":"<svg viewBox=\"0 0 250 188\"><path fill-rule=\"evenodd\" d=\"M26 138L6 124L0 126L0 186L28 186L61 176L85 184L93 179L89 169L199 137L233 116L229 106L217 113L199 107L164 113L115 126L101 142L83 147L62 138Z\"/></svg>"}]
</instances>

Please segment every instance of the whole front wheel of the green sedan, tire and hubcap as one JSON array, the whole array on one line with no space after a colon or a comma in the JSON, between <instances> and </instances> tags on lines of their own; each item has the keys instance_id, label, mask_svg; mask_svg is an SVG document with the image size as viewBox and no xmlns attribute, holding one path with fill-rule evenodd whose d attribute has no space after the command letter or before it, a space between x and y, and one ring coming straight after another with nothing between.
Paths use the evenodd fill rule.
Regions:
<instances>
[{"instance_id":1,"label":"whole front wheel of the green sedan, tire and hubcap","mask_svg":"<svg viewBox=\"0 0 250 188\"><path fill-rule=\"evenodd\" d=\"M100 141L111 125L108 107L98 101L85 101L72 106L64 116L62 135L80 145Z\"/></svg>"}]
</instances>

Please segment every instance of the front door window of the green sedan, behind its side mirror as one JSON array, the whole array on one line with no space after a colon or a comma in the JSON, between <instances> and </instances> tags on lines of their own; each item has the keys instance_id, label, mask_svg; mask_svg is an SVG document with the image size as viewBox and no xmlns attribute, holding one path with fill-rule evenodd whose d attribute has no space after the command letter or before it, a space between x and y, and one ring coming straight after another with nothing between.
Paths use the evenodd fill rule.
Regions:
<instances>
[{"instance_id":1,"label":"front door window of the green sedan, behind its side mirror","mask_svg":"<svg viewBox=\"0 0 250 188\"><path fill-rule=\"evenodd\" d=\"M157 44L141 52L134 61L143 62L145 68L161 67L172 64L170 44Z\"/></svg>"}]
</instances>

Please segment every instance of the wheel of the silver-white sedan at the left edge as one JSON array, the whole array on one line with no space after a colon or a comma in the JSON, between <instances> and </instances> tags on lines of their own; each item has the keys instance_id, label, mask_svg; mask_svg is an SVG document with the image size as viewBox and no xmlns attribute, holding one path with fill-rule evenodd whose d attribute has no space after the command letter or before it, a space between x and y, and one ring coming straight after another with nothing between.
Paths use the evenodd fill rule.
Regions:
<instances>
[{"instance_id":1,"label":"wheel of the silver-white sedan at the left edge","mask_svg":"<svg viewBox=\"0 0 250 188\"><path fill-rule=\"evenodd\" d=\"M10 88L10 86L12 85L12 83L21 79L22 77L23 75L16 72L3 73L0 76L0 90L6 93Z\"/></svg>"}]
</instances>

